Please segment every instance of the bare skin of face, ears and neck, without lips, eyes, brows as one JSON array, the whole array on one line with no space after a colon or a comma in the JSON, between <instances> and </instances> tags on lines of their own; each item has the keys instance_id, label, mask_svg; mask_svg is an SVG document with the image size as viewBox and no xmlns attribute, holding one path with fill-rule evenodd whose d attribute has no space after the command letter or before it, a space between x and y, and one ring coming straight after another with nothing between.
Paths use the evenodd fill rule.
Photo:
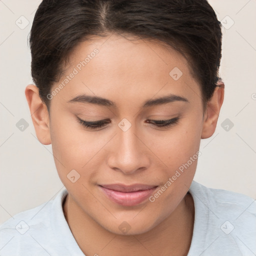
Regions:
<instances>
[{"instance_id":1,"label":"bare skin of face, ears and neck, without lips, eyes, brows","mask_svg":"<svg viewBox=\"0 0 256 256\"><path fill-rule=\"evenodd\" d=\"M78 70L76 65L95 48L98 53ZM169 75L174 67L182 71L177 80ZM87 256L186 255L194 221L187 191L197 160L154 202L122 206L98 185L166 183L199 150L200 139L213 134L224 84L219 82L204 111L200 86L183 56L157 41L116 33L79 43L51 91L73 68L78 73L52 97L49 112L35 85L27 85L25 95L38 140L52 144L58 175L68 191L63 211L79 247ZM142 107L146 100L169 93L187 101ZM80 94L106 98L115 106L70 102ZM109 123L92 130L77 116ZM148 121L174 117L177 123L166 128ZM131 124L127 131L118 126L123 118ZM80 175L74 183L67 178L72 169ZM127 233L118 228L123 221L130 228Z\"/></svg>"}]
</instances>

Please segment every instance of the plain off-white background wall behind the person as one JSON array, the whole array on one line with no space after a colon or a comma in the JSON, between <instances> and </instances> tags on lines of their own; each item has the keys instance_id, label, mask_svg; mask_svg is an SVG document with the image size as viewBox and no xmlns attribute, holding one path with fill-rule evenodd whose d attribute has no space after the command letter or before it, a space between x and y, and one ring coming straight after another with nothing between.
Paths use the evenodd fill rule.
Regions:
<instances>
[{"instance_id":1,"label":"plain off-white background wall behind the person","mask_svg":"<svg viewBox=\"0 0 256 256\"><path fill-rule=\"evenodd\" d=\"M0 0L0 223L64 188L51 145L42 145L35 136L24 94L32 82L27 36L39 3ZM215 133L201 140L194 179L256 198L256 1L209 3L226 27L220 67L225 98ZM26 19L29 24L23 28ZM21 118L29 125L23 131L16 127ZM234 124L228 131L222 128L226 124L221 126L226 118Z\"/></svg>"}]
</instances>

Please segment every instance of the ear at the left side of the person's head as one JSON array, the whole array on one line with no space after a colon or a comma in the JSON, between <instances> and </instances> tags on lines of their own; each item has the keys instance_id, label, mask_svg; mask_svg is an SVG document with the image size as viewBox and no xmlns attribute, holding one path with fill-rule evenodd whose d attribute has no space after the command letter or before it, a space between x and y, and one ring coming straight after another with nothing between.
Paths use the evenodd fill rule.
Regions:
<instances>
[{"instance_id":1,"label":"ear at the left side of the person's head","mask_svg":"<svg viewBox=\"0 0 256 256\"><path fill-rule=\"evenodd\" d=\"M38 140L48 145L51 143L49 131L49 113L46 105L42 102L38 88L29 84L25 88L26 100L30 109L34 129Z\"/></svg>"}]
</instances>

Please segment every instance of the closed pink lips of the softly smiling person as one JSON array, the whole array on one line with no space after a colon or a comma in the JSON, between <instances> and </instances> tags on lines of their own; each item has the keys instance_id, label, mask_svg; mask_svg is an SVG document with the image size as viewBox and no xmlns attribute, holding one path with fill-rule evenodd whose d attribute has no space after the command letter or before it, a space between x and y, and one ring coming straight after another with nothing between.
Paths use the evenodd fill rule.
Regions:
<instances>
[{"instance_id":1,"label":"closed pink lips of the softly smiling person","mask_svg":"<svg viewBox=\"0 0 256 256\"><path fill-rule=\"evenodd\" d=\"M99 185L99 188L108 198L124 206L133 206L144 201L156 187L144 184L129 186L123 184Z\"/></svg>"}]
</instances>

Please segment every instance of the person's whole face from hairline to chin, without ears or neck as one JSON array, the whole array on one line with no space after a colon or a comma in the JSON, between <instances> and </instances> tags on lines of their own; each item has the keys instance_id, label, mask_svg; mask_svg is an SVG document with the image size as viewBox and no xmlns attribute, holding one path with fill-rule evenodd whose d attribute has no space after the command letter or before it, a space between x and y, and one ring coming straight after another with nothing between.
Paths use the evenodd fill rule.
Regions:
<instances>
[{"instance_id":1,"label":"person's whole face from hairline to chin, without ears or neck","mask_svg":"<svg viewBox=\"0 0 256 256\"><path fill-rule=\"evenodd\" d=\"M134 234L171 215L193 179L205 121L199 84L179 53L94 37L74 49L48 97L57 172L80 212Z\"/></svg>"}]
</instances>

